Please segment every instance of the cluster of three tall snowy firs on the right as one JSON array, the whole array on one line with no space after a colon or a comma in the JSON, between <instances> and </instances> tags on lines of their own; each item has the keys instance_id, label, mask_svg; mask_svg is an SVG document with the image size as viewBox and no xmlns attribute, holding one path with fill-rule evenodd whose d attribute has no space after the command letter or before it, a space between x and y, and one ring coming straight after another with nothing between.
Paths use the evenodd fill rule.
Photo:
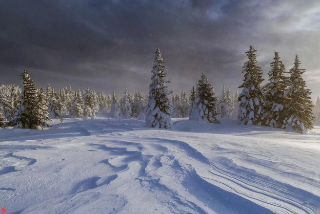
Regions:
<instances>
[{"instance_id":1,"label":"cluster of three tall snowy firs on the right","mask_svg":"<svg viewBox=\"0 0 320 214\"><path fill-rule=\"evenodd\" d=\"M245 52L242 91L239 95L240 113L238 123L274 128L291 128L305 133L313 128L311 91L302 78L305 69L300 68L298 55L293 68L287 71L275 51L268 83L263 85L262 69L258 66L257 50L251 45Z\"/></svg>"}]
</instances>

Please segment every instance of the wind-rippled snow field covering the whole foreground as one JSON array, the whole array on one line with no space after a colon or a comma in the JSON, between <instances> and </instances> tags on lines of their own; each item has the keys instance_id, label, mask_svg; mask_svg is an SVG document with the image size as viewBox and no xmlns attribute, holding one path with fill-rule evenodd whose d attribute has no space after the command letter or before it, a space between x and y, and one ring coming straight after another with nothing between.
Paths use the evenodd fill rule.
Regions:
<instances>
[{"instance_id":1,"label":"wind-rippled snow field covering the whole foreground","mask_svg":"<svg viewBox=\"0 0 320 214\"><path fill-rule=\"evenodd\" d=\"M0 129L0 207L13 214L320 214L320 127L56 120Z\"/></svg>"}]
</instances>

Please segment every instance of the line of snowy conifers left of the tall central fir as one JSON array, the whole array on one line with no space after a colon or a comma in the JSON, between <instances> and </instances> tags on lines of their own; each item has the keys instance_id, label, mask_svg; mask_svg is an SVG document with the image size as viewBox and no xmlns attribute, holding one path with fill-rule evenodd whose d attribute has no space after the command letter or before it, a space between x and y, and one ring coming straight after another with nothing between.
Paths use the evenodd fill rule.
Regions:
<instances>
[{"instance_id":1,"label":"line of snowy conifers left of the tall central fir","mask_svg":"<svg viewBox=\"0 0 320 214\"><path fill-rule=\"evenodd\" d=\"M95 119L97 113L110 112L112 118L144 115L147 97L142 91L131 95L125 88L123 97L106 95L87 88L73 91L71 86L55 91L50 85L38 88L27 71L21 74L22 86L0 86L0 127L42 129L48 121L63 115ZM142 117L144 120L144 116Z\"/></svg>"}]
</instances>

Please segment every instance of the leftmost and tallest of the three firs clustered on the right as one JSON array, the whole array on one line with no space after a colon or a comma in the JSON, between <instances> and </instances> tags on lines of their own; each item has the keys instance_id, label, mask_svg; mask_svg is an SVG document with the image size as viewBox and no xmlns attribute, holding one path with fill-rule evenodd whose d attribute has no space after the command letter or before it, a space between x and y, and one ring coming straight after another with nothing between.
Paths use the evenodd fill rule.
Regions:
<instances>
[{"instance_id":1,"label":"leftmost and tallest of the three firs clustered on the right","mask_svg":"<svg viewBox=\"0 0 320 214\"><path fill-rule=\"evenodd\" d=\"M239 86L242 92L239 95L240 113L238 123L244 125L260 125L263 120L263 109L265 102L263 100L262 70L257 62L257 50L250 45L249 51L245 52L248 56L242 73L244 73L243 84Z\"/></svg>"}]
</instances>

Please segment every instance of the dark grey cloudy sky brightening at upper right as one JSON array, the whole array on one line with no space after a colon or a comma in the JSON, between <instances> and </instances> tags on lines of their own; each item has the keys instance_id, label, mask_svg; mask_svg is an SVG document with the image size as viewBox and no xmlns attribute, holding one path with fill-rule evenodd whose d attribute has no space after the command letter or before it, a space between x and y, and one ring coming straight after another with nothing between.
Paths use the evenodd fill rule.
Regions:
<instances>
[{"instance_id":1,"label":"dark grey cloudy sky brightening at upper right","mask_svg":"<svg viewBox=\"0 0 320 214\"><path fill-rule=\"evenodd\" d=\"M241 85L249 45L265 83L274 51L295 54L320 95L319 0L8 0L0 7L0 85L148 92L155 51L169 88L189 92L204 72L216 93Z\"/></svg>"}]
</instances>

